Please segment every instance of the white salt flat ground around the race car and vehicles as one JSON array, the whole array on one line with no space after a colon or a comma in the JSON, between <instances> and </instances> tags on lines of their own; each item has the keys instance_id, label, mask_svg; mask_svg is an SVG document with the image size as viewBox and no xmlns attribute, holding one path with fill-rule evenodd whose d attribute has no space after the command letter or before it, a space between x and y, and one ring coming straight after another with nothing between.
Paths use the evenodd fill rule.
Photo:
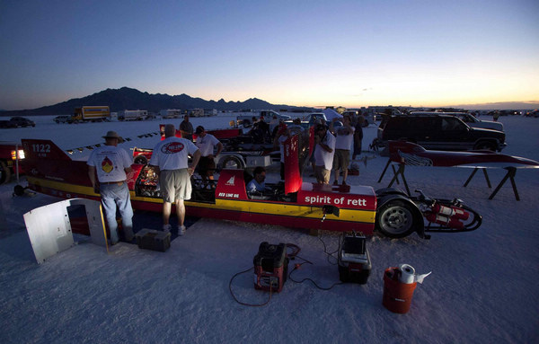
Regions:
<instances>
[{"instance_id":1,"label":"white salt flat ground around the race car and vehicles","mask_svg":"<svg viewBox=\"0 0 539 344\"><path fill-rule=\"evenodd\" d=\"M223 128L230 119L192 121ZM539 119L500 120L508 136L503 153L539 161ZM72 126L57 125L51 118L36 121L36 128L0 131L1 139L52 138L70 149L101 143L110 129L123 137L137 137L157 131L160 122L178 125L180 119ZM376 128L367 128L365 135L367 147ZM137 138L126 148L152 147L156 140ZM77 158L84 159L84 154ZM385 187L389 176L376 183L385 162L376 157L367 166L361 164L360 175L350 176L349 183ZM539 170L517 172L520 201L509 183L489 200L491 190L480 173L463 188L470 172L407 167L406 175L412 189L433 197L463 198L483 216L478 230L433 234L429 241L416 234L403 240L375 236L367 243L373 261L367 285L321 291L309 283L287 281L283 291L261 308L234 302L228 291L234 273L252 267L263 241L296 243L300 255L314 265L305 264L295 277L330 286L339 275L318 238L273 225L201 219L165 253L119 243L107 254L82 237L78 245L38 265L22 214L59 199L13 198L12 181L0 186L5 217L0 231L0 342L537 342ZM491 171L490 180L496 185L504 174ZM151 221L153 215L148 216ZM159 226L160 216L155 214L155 227ZM330 250L336 248L337 238L323 235ZM384 269L399 263L409 263L420 273L432 271L416 288L410 313L404 315L382 305ZM261 303L268 297L254 290L251 274L236 278L234 291L245 302Z\"/></svg>"}]
</instances>

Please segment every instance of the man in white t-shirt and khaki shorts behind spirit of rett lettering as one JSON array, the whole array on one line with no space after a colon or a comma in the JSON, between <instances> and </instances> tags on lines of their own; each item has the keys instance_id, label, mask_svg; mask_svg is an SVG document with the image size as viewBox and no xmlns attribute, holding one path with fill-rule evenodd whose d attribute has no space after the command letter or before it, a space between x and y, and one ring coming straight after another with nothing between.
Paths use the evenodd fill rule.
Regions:
<instances>
[{"instance_id":1,"label":"man in white t-shirt and khaki shorts behind spirit of rett lettering","mask_svg":"<svg viewBox=\"0 0 539 344\"><path fill-rule=\"evenodd\" d=\"M319 183L329 184L335 154L335 137L325 125L318 124L314 132L314 142L314 176Z\"/></svg>"}]
</instances>

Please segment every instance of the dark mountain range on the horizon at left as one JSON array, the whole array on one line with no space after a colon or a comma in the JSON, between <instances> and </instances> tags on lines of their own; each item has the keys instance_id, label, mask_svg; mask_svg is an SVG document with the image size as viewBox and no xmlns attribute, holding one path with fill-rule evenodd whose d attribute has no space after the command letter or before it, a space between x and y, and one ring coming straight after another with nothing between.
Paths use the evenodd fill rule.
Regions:
<instances>
[{"instance_id":1,"label":"dark mountain range on the horizon at left","mask_svg":"<svg viewBox=\"0 0 539 344\"><path fill-rule=\"evenodd\" d=\"M148 110L159 112L164 109L206 109L206 110L312 110L311 108L301 108L288 105L271 104L258 98L251 98L246 101L205 101L201 98L192 98L187 94L150 94L140 92L133 88L122 87L120 89L106 89L99 93L93 93L84 98L70 99L59 102L55 105L44 106L32 110L4 110L0 111L0 116L49 116L68 115L73 110L82 106L108 105L110 111L119 110Z\"/></svg>"}]
</instances>

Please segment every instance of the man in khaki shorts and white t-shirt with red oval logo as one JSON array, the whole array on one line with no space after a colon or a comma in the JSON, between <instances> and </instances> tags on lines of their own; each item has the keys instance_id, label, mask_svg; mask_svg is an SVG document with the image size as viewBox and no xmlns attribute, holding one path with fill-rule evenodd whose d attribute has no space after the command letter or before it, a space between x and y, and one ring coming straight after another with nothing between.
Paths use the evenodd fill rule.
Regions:
<instances>
[{"instance_id":1,"label":"man in khaki shorts and white t-shirt with red oval logo","mask_svg":"<svg viewBox=\"0 0 539 344\"><path fill-rule=\"evenodd\" d=\"M185 234L185 205L184 200L191 197L190 176L197 167L200 150L186 138L175 137L176 128L173 124L164 127L164 140L154 147L150 165L155 166L159 176L159 185L163 197L163 231L170 232L172 203L176 205L178 216L178 235ZM189 165L189 155L193 157Z\"/></svg>"}]
</instances>

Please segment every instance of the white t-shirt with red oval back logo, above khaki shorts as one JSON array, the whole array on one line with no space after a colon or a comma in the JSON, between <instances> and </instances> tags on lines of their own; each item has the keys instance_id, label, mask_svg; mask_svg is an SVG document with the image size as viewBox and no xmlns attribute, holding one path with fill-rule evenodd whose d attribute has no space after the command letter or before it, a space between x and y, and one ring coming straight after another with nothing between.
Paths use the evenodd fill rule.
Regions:
<instances>
[{"instance_id":1,"label":"white t-shirt with red oval back logo, above khaki shorts","mask_svg":"<svg viewBox=\"0 0 539 344\"><path fill-rule=\"evenodd\" d=\"M179 170L189 167L189 154L199 148L190 140L180 137L167 137L154 147L150 163L159 166L159 170Z\"/></svg>"}]
</instances>

